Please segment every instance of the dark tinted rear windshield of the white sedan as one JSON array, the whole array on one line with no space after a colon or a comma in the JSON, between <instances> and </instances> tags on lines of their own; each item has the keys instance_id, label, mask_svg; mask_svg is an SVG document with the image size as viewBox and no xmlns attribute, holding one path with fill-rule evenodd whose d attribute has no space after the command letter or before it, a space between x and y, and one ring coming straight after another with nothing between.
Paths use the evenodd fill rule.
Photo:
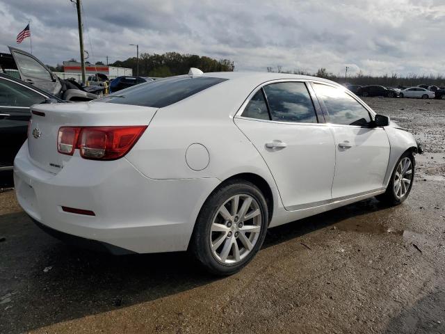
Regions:
<instances>
[{"instance_id":1,"label":"dark tinted rear windshield of the white sedan","mask_svg":"<svg viewBox=\"0 0 445 334\"><path fill-rule=\"evenodd\" d=\"M163 108L226 81L212 77L173 77L149 81L104 97L103 102Z\"/></svg>"}]
</instances>

